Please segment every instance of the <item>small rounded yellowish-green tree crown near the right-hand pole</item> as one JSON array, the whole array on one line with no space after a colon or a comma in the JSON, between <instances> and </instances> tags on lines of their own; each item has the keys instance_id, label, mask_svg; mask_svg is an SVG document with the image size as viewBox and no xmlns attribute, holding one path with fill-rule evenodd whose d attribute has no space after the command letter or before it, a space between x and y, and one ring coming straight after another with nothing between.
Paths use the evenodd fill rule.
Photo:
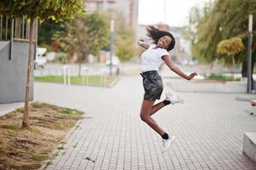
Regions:
<instances>
[{"instance_id":1,"label":"small rounded yellowish-green tree crown near the right-hand pole","mask_svg":"<svg viewBox=\"0 0 256 170\"><path fill-rule=\"evenodd\" d=\"M240 37L232 37L219 42L217 52L219 54L235 55L244 50L242 39Z\"/></svg>"}]
</instances>

